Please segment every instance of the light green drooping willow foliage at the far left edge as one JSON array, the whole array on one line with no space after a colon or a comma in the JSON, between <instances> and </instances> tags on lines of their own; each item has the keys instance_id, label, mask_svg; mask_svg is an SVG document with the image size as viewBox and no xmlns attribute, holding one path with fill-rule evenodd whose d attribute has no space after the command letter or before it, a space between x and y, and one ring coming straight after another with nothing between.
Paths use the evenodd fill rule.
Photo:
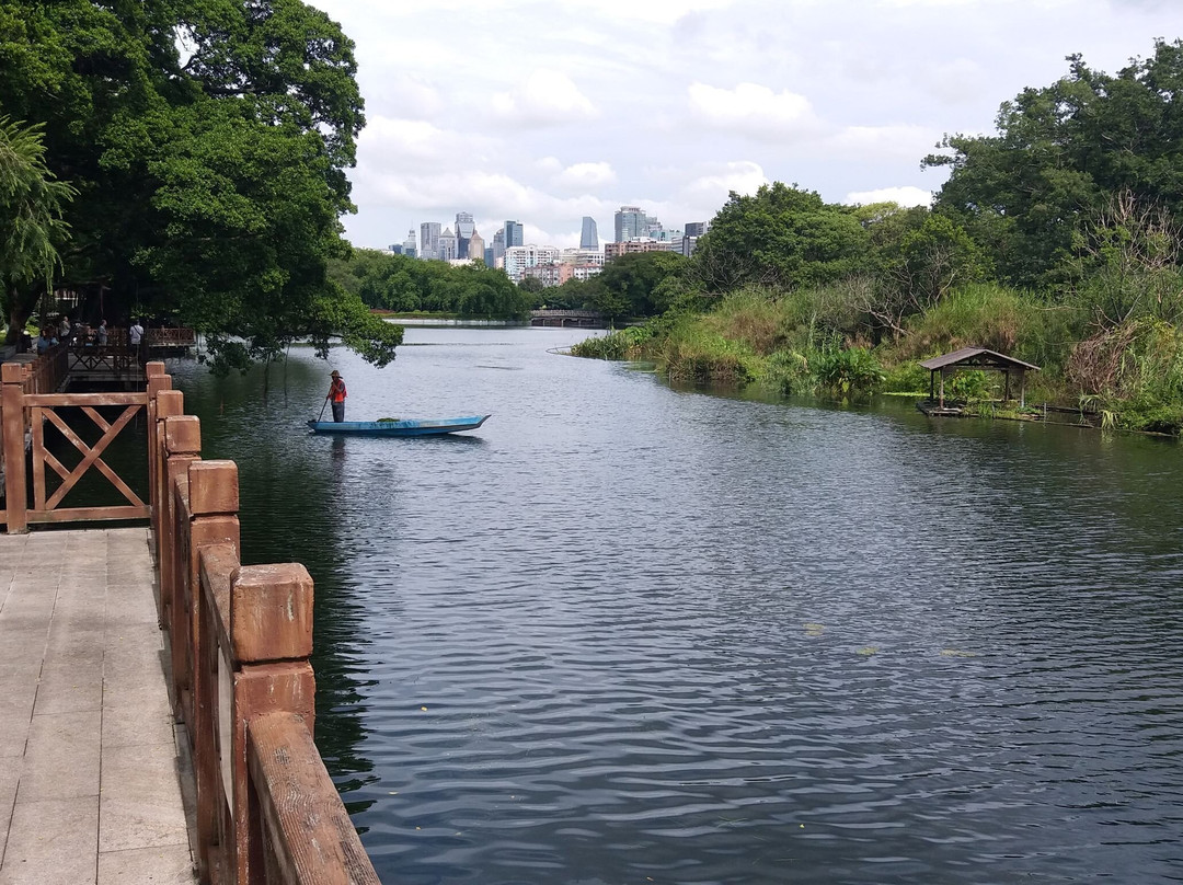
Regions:
<instances>
[{"instance_id":1,"label":"light green drooping willow foliage at the far left edge","mask_svg":"<svg viewBox=\"0 0 1183 885\"><path fill-rule=\"evenodd\" d=\"M8 340L27 319L15 305L47 291L69 232L62 220L75 189L54 181L45 167L45 147L37 127L0 117L0 283Z\"/></svg>"}]
</instances>

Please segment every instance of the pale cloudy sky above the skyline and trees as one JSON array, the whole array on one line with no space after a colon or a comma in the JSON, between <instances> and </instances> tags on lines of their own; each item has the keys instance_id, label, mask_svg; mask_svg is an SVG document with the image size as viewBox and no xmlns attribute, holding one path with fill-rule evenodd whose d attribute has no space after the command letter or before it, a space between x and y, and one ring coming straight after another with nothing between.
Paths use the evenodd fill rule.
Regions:
<instances>
[{"instance_id":1,"label":"pale cloudy sky above the skyline and trees","mask_svg":"<svg viewBox=\"0 0 1183 885\"><path fill-rule=\"evenodd\" d=\"M1183 38L1183 0L306 0L356 44L367 125L355 246L470 212L486 244L613 239L782 181L827 202L927 204L945 134L1002 102Z\"/></svg>"}]
</instances>

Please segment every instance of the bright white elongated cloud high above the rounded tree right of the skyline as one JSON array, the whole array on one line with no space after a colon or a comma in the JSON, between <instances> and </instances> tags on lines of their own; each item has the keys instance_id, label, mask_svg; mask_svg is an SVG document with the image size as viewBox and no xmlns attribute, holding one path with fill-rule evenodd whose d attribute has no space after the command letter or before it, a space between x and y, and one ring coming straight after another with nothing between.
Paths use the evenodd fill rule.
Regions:
<instances>
[{"instance_id":1,"label":"bright white elongated cloud high above the rounded tree right of the skyline","mask_svg":"<svg viewBox=\"0 0 1183 885\"><path fill-rule=\"evenodd\" d=\"M700 122L759 137L784 137L816 131L819 122L804 96L774 92L757 83L718 89L693 83L687 89L691 111Z\"/></svg>"}]
</instances>

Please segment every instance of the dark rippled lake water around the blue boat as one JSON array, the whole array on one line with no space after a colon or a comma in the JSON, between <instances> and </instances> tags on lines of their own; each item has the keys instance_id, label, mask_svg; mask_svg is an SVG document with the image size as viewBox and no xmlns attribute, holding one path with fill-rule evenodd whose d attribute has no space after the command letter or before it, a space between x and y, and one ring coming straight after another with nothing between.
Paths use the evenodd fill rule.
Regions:
<instances>
[{"instance_id":1,"label":"dark rippled lake water around the blue boat","mask_svg":"<svg viewBox=\"0 0 1183 885\"><path fill-rule=\"evenodd\" d=\"M170 364L244 558L316 580L317 742L384 881L1183 880L1174 441L671 389L413 328ZM468 438L311 437L492 413Z\"/></svg>"}]
</instances>

